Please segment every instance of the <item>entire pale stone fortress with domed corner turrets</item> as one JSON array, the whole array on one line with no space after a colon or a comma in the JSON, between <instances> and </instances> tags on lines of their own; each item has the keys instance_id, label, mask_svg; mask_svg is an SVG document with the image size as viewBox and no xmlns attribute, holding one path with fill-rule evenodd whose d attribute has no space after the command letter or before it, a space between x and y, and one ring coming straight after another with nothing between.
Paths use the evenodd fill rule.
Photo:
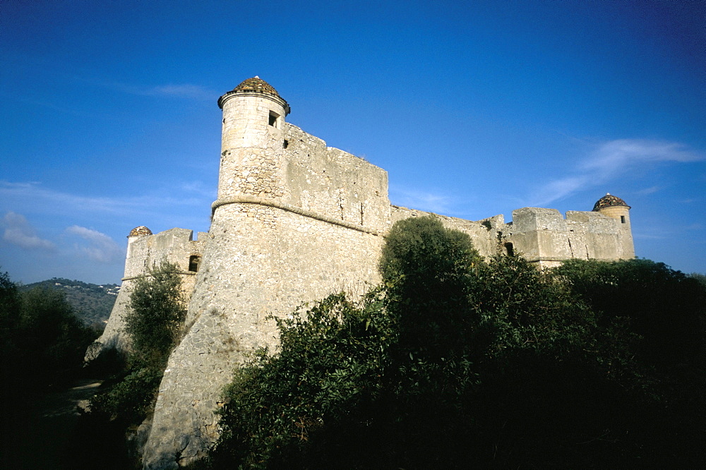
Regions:
<instances>
[{"instance_id":1,"label":"entire pale stone fortress with domed corner turrets","mask_svg":"<svg viewBox=\"0 0 706 470\"><path fill-rule=\"evenodd\" d=\"M133 279L166 259L181 268L189 313L186 336L169 358L143 462L176 468L203 457L217 438L222 387L244 354L274 347L267 315L286 315L332 291L362 291L379 281L384 236L407 217L429 212L388 199L388 175L285 121L289 104L261 78L218 100L223 111L217 200L208 233L187 229L128 236L125 276L109 323L90 360L128 344L123 319ZM474 222L432 215L468 234L484 256L522 255L539 267L570 258L633 258L630 207L614 195L592 211L523 207Z\"/></svg>"}]
</instances>

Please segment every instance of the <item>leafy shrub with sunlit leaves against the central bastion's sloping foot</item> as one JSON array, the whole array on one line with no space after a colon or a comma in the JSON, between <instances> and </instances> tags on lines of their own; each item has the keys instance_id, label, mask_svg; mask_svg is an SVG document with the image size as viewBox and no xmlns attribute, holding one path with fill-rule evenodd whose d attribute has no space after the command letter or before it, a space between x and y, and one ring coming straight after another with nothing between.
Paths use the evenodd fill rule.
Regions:
<instances>
[{"instance_id":1,"label":"leafy shrub with sunlit leaves against the central bastion's sloping foot","mask_svg":"<svg viewBox=\"0 0 706 470\"><path fill-rule=\"evenodd\" d=\"M277 320L281 354L256 352L226 391L222 415L228 425L217 462L294 465L309 439L325 435L333 423L359 424L361 409L383 390L381 374L395 341L380 305L374 292L358 305L336 294L306 315Z\"/></svg>"}]
</instances>

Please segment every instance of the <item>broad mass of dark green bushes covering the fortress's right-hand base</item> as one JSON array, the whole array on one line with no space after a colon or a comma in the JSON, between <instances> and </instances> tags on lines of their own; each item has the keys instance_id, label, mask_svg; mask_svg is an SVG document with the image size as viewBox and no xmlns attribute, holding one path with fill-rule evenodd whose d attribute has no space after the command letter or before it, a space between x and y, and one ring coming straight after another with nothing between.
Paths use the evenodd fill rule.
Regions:
<instances>
[{"instance_id":1,"label":"broad mass of dark green bushes covering the fortress's right-hand base","mask_svg":"<svg viewBox=\"0 0 706 470\"><path fill-rule=\"evenodd\" d=\"M484 262L462 234L408 220L388 236L381 286L277 320L280 351L236 371L203 466L703 463L703 284L646 260ZM688 354L657 358L678 338Z\"/></svg>"}]
</instances>

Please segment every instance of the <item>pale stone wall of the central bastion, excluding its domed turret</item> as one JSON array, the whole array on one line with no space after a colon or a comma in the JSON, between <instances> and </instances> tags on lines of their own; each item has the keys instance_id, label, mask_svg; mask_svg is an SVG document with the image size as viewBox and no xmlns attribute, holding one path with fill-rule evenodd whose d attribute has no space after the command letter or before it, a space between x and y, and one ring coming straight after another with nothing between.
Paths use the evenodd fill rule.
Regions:
<instances>
[{"instance_id":1,"label":"pale stone wall of the central bastion, excluding its domed turret","mask_svg":"<svg viewBox=\"0 0 706 470\"><path fill-rule=\"evenodd\" d=\"M256 347L277 347L268 315L288 315L334 291L361 294L379 281L381 234L390 227L387 174L282 125L284 133L268 130L265 157L251 149L225 150L232 161L249 158L248 166L240 159L242 173L282 162L266 180L282 186L257 195L223 192L213 205L188 332L160 386L143 454L146 469L203 457L217 438L213 411L234 368ZM251 183L253 190L261 187L258 178Z\"/></svg>"}]
</instances>

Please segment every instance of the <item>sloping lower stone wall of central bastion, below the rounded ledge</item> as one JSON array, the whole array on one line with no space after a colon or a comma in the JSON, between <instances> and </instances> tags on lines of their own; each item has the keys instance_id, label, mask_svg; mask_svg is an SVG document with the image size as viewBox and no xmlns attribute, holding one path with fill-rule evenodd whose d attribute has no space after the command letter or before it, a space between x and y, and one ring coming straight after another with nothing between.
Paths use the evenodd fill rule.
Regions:
<instances>
[{"instance_id":1,"label":"sloping lower stone wall of central bastion, below the rounded ledge","mask_svg":"<svg viewBox=\"0 0 706 470\"><path fill-rule=\"evenodd\" d=\"M218 207L213 239L189 306L189 332L160 386L146 468L203 456L217 438L217 409L232 371L256 347L277 347L268 315L289 315L335 291L379 281L382 236L276 207ZM188 435L188 440L184 440Z\"/></svg>"}]
</instances>

